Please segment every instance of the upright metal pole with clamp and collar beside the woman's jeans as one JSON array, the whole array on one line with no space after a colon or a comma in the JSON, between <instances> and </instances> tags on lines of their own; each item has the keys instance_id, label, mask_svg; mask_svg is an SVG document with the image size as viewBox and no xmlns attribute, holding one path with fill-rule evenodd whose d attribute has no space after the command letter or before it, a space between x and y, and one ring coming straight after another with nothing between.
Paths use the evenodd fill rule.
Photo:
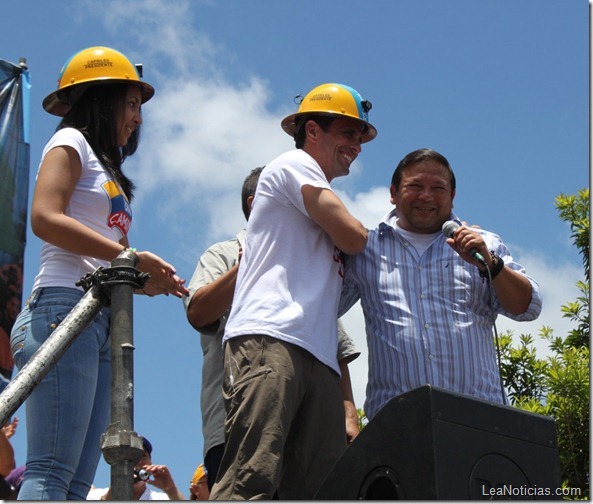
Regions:
<instances>
[{"instance_id":1,"label":"upright metal pole with clamp and collar beside the woman's jeans","mask_svg":"<svg viewBox=\"0 0 593 504\"><path fill-rule=\"evenodd\" d=\"M134 289L138 282L138 256L130 250L112 262L118 272L111 285L111 424L101 439L105 461L111 466L111 498L134 498L134 465L142 458L142 440L134 432Z\"/></svg>"}]
</instances>

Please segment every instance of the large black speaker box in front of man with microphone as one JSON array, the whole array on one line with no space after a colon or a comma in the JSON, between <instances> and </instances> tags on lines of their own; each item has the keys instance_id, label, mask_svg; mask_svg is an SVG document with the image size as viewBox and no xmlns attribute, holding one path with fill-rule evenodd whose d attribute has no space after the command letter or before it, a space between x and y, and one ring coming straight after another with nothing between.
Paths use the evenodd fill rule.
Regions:
<instances>
[{"instance_id":1,"label":"large black speaker box in front of man with microphone","mask_svg":"<svg viewBox=\"0 0 593 504\"><path fill-rule=\"evenodd\" d=\"M558 499L551 418L425 385L389 401L319 500Z\"/></svg>"}]
</instances>

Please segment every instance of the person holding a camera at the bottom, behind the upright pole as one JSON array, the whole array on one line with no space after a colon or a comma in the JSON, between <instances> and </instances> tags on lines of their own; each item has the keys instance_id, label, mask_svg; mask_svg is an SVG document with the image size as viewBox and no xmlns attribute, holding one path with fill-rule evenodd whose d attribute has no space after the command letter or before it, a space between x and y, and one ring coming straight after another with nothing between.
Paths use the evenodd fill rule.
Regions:
<instances>
[{"instance_id":1,"label":"person holding a camera at the bottom, behind the upright pole","mask_svg":"<svg viewBox=\"0 0 593 504\"><path fill-rule=\"evenodd\" d=\"M179 491L169 468L165 465L152 463L152 444L145 437L142 438L144 453L134 466L134 500L185 500ZM140 477L145 471L148 479ZM162 492L157 492L147 486L152 485ZM111 488L92 488L87 495L87 500L111 500Z\"/></svg>"}]
</instances>

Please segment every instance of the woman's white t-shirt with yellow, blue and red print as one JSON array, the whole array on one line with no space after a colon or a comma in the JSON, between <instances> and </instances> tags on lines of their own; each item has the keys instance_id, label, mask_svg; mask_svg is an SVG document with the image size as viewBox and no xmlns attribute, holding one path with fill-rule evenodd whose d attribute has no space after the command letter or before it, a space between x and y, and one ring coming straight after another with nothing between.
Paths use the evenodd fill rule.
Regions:
<instances>
[{"instance_id":1,"label":"woman's white t-shirt with yellow, blue and red print","mask_svg":"<svg viewBox=\"0 0 593 504\"><path fill-rule=\"evenodd\" d=\"M58 146L72 147L82 165L66 215L97 231L110 240L119 242L130 229L132 210L119 184L104 168L82 133L73 128L57 131L49 140L41 161ZM87 273L110 263L88 256L80 256L60 247L43 242L39 273L33 290L39 287L74 287Z\"/></svg>"}]
</instances>

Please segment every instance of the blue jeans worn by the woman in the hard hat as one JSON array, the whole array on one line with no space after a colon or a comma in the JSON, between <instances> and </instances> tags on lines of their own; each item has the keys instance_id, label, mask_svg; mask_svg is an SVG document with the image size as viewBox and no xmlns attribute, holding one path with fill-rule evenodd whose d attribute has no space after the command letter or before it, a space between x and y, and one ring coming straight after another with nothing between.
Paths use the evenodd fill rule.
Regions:
<instances>
[{"instance_id":1,"label":"blue jeans worn by the woman in the hard hat","mask_svg":"<svg viewBox=\"0 0 593 504\"><path fill-rule=\"evenodd\" d=\"M35 290L10 344L21 369L84 293ZM26 401L27 469L19 500L86 500L110 411L111 310L103 308Z\"/></svg>"}]
</instances>

